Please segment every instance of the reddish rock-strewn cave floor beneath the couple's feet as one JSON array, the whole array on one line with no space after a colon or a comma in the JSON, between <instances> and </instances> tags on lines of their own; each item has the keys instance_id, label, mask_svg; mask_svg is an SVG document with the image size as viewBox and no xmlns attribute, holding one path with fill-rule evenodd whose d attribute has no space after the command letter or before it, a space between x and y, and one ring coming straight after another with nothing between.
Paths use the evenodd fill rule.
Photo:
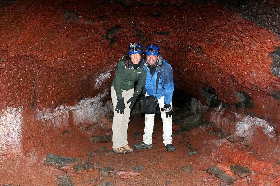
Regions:
<instances>
[{"instance_id":1,"label":"reddish rock-strewn cave floor beneath the couple's feet","mask_svg":"<svg viewBox=\"0 0 280 186\"><path fill-rule=\"evenodd\" d=\"M189 116L189 110L185 108L174 108L177 109L173 116L173 144L177 148L175 152L167 152L162 143L160 114L155 117L153 147L135 149L133 153L124 155L111 152L111 141L95 143L69 130L64 131L58 139L53 139L46 147L33 149L22 157L2 162L0 185L214 186L231 185L231 182L234 186L279 184L277 175L266 174L265 170L254 171L262 170L262 166L267 168L275 165L276 170L273 172L279 173L279 161L275 162L278 157L263 156L269 151L269 146L254 152L250 145L232 140L231 142L228 140L231 136L224 134L222 130L207 122L199 123L200 113ZM186 119L192 126L185 126L183 129L182 121ZM128 126L130 146L142 141L143 130L144 117L134 112ZM242 141L242 138L233 140ZM48 153L51 154L47 155ZM46 157L49 158L49 164L46 163ZM58 162L55 162L56 160ZM79 161L82 165L77 167ZM243 165L233 165L239 162L240 165L245 162L246 165L256 164L259 167L251 171Z\"/></svg>"}]
</instances>

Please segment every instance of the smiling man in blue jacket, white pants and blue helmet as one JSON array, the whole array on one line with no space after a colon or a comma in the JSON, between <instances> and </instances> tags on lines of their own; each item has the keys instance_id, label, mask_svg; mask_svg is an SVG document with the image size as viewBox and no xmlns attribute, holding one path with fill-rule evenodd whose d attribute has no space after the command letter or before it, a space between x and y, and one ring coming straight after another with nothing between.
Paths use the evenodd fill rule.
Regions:
<instances>
[{"instance_id":1,"label":"smiling man in blue jacket, white pants and blue helmet","mask_svg":"<svg viewBox=\"0 0 280 186\"><path fill-rule=\"evenodd\" d=\"M143 68L147 71L145 80L146 95L156 96L163 122L163 144L167 151L175 151L172 145L172 95L174 90L173 72L171 65L162 58L157 45L148 45L145 51ZM156 78L160 73L157 94ZM135 144L137 149L152 148L152 134L154 130L155 114L145 115L145 129L143 141Z\"/></svg>"}]
</instances>

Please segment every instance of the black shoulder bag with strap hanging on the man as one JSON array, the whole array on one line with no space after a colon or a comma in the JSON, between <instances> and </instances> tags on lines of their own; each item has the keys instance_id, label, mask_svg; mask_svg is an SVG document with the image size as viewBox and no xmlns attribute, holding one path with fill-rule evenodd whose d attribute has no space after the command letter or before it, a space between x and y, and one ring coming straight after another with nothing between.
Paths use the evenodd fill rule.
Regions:
<instances>
[{"instance_id":1,"label":"black shoulder bag with strap hanging on the man","mask_svg":"<svg viewBox=\"0 0 280 186\"><path fill-rule=\"evenodd\" d=\"M158 87L158 81L159 81L159 76L161 75L161 73L157 73L157 77L156 77L156 94L157 94L157 87ZM155 114L156 113L156 108L157 108L157 104L158 101L156 99L156 96L146 96L146 89L145 89L145 85L143 88L143 97L141 99L141 113L143 114Z\"/></svg>"}]
</instances>

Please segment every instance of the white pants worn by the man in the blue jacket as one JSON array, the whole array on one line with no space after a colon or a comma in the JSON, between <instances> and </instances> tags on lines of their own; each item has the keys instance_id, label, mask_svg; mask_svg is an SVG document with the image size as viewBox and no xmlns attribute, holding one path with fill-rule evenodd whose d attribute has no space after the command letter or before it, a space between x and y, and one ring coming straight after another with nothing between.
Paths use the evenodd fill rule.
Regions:
<instances>
[{"instance_id":1,"label":"white pants worn by the man in the blue jacket","mask_svg":"<svg viewBox=\"0 0 280 186\"><path fill-rule=\"evenodd\" d=\"M146 93L146 96L148 94ZM161 111L161 108L164 106L164 96L162 96L158 100L158 105L161 112L161 119L163 122L163 144L166 146L167 144L172 144L172 115L171 117L166 117L164 111ZM170 103L172 108L172 101ZM155 114L146 114L145 115L145 128L144 128L144 135L143 135L143 142L147 145L152 144L152 135L154 130L154 118Z\"/></svg>"}]
</instances>

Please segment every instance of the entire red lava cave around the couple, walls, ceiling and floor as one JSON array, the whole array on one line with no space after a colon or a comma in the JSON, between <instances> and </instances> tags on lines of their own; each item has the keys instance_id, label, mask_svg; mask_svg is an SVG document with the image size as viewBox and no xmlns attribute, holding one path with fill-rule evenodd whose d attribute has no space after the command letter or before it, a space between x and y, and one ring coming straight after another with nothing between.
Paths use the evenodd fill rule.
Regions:
<instances>
[{"instance_id":1,"label":"entire red lava cave around the couple, walls, ceiling and floor","mask_svg":"<svg viewBox=\"0 0 280 186\"><path fill-rule=\"evenodd\" d=\"M278 185L280 3L0 1L0 186ZM111 152L130 42L173 68L173 144ZM139 102L128 141L142 140Z\"/></svg>"}]
</instances>

